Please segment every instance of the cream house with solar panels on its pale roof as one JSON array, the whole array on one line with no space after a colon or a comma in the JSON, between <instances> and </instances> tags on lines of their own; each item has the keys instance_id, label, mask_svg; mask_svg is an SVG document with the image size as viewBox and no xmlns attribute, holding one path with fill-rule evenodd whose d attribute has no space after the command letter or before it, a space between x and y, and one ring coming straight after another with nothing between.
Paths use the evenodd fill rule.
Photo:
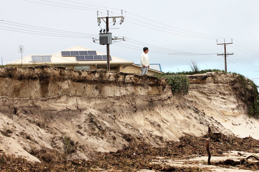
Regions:
<instances>
[{"instance_id":1,"label":"cream house with solar panels on its pale roof","mask_svg":"<svg viewBox=\"0 0 259 172\"><path fill-rule=\"evenodd\" d=\"M140 66L134 62L119 57L111 56L110 70L140 74ZM65 66L74 70L96 70L107 69L107 54L94 51L79 45L73 46L55 54L28 55L14 60L6 65L40 65L49 64L53 66ZM161 71L149 69L148 75L161 74Z\"/></svg>"}]
</instances>

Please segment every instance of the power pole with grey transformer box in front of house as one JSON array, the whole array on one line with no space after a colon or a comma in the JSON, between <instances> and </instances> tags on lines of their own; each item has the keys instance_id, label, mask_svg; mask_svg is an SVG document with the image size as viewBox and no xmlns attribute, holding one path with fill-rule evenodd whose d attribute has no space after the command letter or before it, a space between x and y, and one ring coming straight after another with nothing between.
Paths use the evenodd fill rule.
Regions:
<instances>
[{"instance_id":1,"label":"power pole with grey transformer box in front of house","mask_svg":"<svg viewBox=\"0 0 259 172\"><path fill-rule=\"evenodd\" d=\"M124 17L122 16L122 10L121 10L121 16L117 16L117 17L109 17L109 11L107 11L107 17L98 17L98 11L97 11L98 26L100 25L101 19L102 19L106 23L107 34L109 33L109 18L112 18L113 25L115 25L116 23L116 18L121 18L120 19L120 25L121 25L121 23L124 21ZM110 44L111 44L112 38L111 38L111 33L108 34L107 36L106 35L104 36L103 34L105 34L105 29L103 30L103 33L102 33L102 30L100 31L100 40L102 40L102 42L100 41L100 44L107 45L107 71L109 71L110 70ZM111 38L111 40L109 38ZM115 38L115 39L118 39L118 38ZM93 41L95 40L97 39L94 39Z\"/></svg>"}]
</instances>

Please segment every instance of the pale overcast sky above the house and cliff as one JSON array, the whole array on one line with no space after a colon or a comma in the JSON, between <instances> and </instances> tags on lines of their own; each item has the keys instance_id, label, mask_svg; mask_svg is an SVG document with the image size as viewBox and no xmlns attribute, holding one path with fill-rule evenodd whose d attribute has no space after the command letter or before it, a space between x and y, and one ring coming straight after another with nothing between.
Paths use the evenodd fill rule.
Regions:
<instances>
[{"instance_id":1,"label":"pale overcast sky above the house and cliff","mask_svg":"<svg viewBox=\"0 0 259 172\"><path fill-rule=\"evenodd\" d=\"M75 45L106 53L99 31L106 28L98 17L119 17L109 32L118 39L110 55L140 63L143 47L151 64L163 72L225 70L259 85L258 0L2 0L0 4L0 56L10 63L22 56L53 54ZM121 14L122 10L122 14ZM18 52L24 45L24 53ZM1 64L2 64L1 63ZM255 79L256 78L256 79Z\"/></svg>"}]
</instances>

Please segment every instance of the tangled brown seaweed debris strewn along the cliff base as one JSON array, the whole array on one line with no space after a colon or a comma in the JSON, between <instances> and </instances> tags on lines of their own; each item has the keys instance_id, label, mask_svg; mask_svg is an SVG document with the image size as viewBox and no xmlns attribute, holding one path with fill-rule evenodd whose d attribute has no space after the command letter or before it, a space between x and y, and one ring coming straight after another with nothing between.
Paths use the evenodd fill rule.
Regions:
<instances>
[{"instance_id":1,"label":"tangled brown seaweed debris strewn along the cliff base","mask_svg":"<svg viewBox=\"0 0 259 172\"><path fill-rule=\"evenodd\" d=\"M211 133L204 136L210 138L210 152L212 156L223 156L224 152L229 150L249 151L250 153L258 153L259 141L251 137L237 138L229 137L220 133ZM122 150L110 153L96 152L92 159L76 159L68 161L64 155L55 153L53 150L41 152L33 152L38 154L42 163L29 162L23 158L14 158L10 155L0 154L0 168L1 172L10 171L26 171L26 172L47 172L47 171L67 171L67 172L90 172L90 171L123 171L131 172L141 169L153 169L154 171L202 171L199 167L173 167L167 164L151 164L157 157L166 159L189 159L192 155L206 156L206 141L190 136L180 138L179 142L166 142L164 147L152 147L148 144L135 145L130 144ZM58 157L58 158L57 158ZM255 158L250 156L249 158ZM258 158L258 157L257 157ZM257 159L258 160L258 159ZM225 162L233 162L226 160ZM206 162L204 162L206 163ZM231 163L211 162L212 165L221 167L230 167ZM232 164L233 165L233 164ZM242 165L236 165L239 169L259 170L258 162L248 162L248 158ZM162 169L163 168L163 169ZM203 168L204 170L204 168Z\"/></svg>"}]
</instances>

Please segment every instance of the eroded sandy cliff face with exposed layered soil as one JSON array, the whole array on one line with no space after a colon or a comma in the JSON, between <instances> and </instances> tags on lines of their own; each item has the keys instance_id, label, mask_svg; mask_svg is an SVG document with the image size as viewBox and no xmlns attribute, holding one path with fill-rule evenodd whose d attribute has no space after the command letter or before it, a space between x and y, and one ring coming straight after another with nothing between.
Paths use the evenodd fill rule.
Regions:
<instances>
[{"instance_id":1,"label":"eroded sandy cliff face with exposed layered soil","mask_svg":"<svg viewBox=\"0 0 259 172\"><path fill-rule=\"evenodd\" d=\"M213 132L256 137L236 75L209 72L189 78L189 94L183 96L172 95L166 80L147 75L44 65L0 68L0 143L7 153L17 151L15 144L35 160L29 153L42 148L65 153L64 137L76 144L71 158L131 143L161 146L178 141L183 131L204 135L208 126ZM240 128L248 128L245 136Z\"/></svg>"}]
</instances>

